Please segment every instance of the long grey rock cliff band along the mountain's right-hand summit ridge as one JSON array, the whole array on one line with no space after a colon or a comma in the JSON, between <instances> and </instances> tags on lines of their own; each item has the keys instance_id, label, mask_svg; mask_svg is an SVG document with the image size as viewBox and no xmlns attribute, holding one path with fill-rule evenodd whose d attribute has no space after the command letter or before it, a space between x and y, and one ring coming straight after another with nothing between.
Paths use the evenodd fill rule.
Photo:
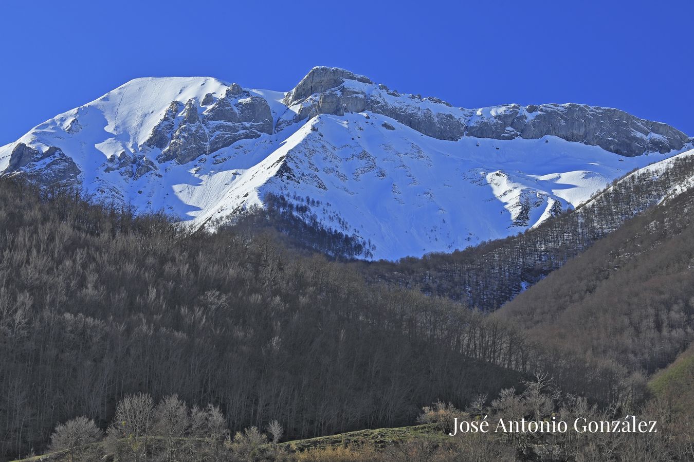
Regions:
<instances>
[{"instance_id":1,"label":"long grey rock cliff band along the mountain's right-hand summit ridge","mask_svg":"<svg viewBox=\"0 0 694 462\"><path fill-rule=\"evenodd\" d=\"M287 94L285 103L297 108L294 122L316 114L370 111L424 135L454 141L464 136L508 140L552 135L628 157L668 153L689 142L687 135L665 123L639 119L618 109L574 103L452 108L440 99L399 94L384 85L373 85L366 77L329 67L312 69Z\"/></svg>"}]
</instances>

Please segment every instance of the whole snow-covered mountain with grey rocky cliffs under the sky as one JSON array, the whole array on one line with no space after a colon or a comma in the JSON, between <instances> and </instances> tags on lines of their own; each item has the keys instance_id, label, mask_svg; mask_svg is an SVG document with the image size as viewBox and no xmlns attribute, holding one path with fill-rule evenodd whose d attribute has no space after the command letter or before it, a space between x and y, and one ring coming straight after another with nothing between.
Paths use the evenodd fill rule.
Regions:
<instances>
[{"instance_id":1,"label":"whole snow-covered mountain with grey rocky cliffs under the sky","mask_svg":"<svg viewBox=\"0 0 694 462\"><path fill-rule=\"evenodd\" d=\"M516 234L691 147L616 109L455 108L316 67L290 92L131 80L1 147L0 171L194 223L282 195L396 259Z\"/></svg>"}]
</instances>

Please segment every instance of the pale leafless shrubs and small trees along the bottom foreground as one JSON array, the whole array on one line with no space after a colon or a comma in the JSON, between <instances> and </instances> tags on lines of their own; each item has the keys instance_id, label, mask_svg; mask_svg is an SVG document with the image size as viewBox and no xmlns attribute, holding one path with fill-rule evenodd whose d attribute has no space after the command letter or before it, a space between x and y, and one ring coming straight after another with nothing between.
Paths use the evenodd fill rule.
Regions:
<instances>
[{"instance_id":1,"label":"pale leafless shrubs and small trees along the bottom foreground","mask_svg":"<svg viewBox=\"0 0 694 462\"><path fill-rule=\"evenodd\" d=\"M105 434L85 417L58 424L51 450L60 462L666 462L694 456L691 416L674 415L663 400L650 400L627 415L619 407L601 409L564 393L546 374L522 385L493 397L477 395L463 409L441 401L425 406L417 418L422 427L413 427L410 436L407 429L396 429L400 434L393 432L384 444L350 434L341 443L280 444L284 433L277 420L232 436L212 404L190 408L177 395L155 404L150 395L136 393L117 404Z\"/></svg>"}]
</instances>

